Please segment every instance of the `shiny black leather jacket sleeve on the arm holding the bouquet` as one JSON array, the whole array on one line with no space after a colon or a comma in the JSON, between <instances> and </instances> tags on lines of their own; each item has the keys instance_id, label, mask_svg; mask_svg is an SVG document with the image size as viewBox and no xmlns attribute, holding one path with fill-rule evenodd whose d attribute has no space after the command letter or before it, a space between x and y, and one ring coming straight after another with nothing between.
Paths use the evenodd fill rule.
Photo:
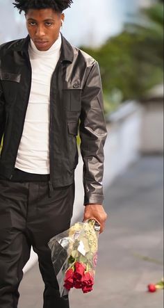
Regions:
<instances>
[{"instance_id":1,"label":"shiny black leather jacket sleeve on the arm holding the bouquet","mask_svg":"<svg viewBox=\"0 0 164 308\"><path fill-rule=\"evenodd\" d=\"M83 158L84 204L102 204L104 174L104 120L103 95L99 65L90 67L81 97L80 137Z\"/></svg>"}]
</instances>

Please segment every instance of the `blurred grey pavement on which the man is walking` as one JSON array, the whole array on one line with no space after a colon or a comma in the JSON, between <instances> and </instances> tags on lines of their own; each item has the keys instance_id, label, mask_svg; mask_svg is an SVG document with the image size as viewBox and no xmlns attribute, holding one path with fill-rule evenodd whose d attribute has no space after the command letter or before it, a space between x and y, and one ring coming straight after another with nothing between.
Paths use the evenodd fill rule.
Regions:
<instances>
[{"instance_id":1,"label":"blurred grey pavement on which the man is walking","mask_svg":"<svg viewBox=\"0 0 164 308\"><path fill-rule=\"evenodd\" d=\"M106 189L104 207L94 291L72 291L70 308L162 308L163 291L148 293L147 284L163 276L163 158L131 165ZM19 288L19 308L42 308L43 289L35 264Z\"/></svg>"}]
</instances>

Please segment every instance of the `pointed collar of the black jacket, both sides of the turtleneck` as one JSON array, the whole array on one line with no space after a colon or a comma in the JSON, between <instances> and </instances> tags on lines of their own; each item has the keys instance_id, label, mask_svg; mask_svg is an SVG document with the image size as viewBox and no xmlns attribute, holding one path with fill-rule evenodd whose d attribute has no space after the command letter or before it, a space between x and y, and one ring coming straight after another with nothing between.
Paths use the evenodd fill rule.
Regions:
<instances>
[{"instance_id":1,"label":"pointed collar of the black jacket, both sides of the turtleneck","mask_svg":"<svg viewBox=\"0 0 164 308\"><path fill-rule=\"evenodd\" d=\"M61 45L61 55L60 60L63 61L69 61L73 62L74 59L74 51L72 48L72 45L69 44L69 42L64 38L64 36L61 34L62 38L62 45ZM17 40L14 44L14 50L15 51L22 51L25 54L28 54L28 44L30 42L30 37L27 35L26 38L23 38L22 40Z\"/></svg>"}]
</instances>

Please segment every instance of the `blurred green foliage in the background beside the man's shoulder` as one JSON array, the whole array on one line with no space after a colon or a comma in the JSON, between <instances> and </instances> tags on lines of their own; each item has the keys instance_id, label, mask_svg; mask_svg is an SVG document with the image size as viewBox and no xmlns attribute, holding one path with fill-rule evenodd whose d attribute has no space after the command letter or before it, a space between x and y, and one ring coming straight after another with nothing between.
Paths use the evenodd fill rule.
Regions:
<instances>
[{"instance_id":1,"label":"blurred green foliage in the background beside the man's shoulder","mask_svg":"<svg viewBox=\"0 0 164 308\"><path fill-rule=\"evenodd\" d=\"M99 49L83 48L100 65L106 112L140 99L163 81L163 4L142 10Z\"/></svg>"}]
</instances>

